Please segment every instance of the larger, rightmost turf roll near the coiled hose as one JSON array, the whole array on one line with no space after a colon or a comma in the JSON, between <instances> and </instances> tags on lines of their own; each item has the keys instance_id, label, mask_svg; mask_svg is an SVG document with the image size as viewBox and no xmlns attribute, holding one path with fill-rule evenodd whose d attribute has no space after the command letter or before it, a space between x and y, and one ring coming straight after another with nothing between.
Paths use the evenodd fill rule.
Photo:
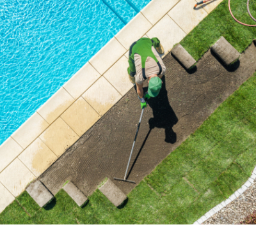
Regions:
<instances>
[{"instance_id":1,"label":"larger, rightmost turf roll near the coiled hose","mask_svg":"<svg viewBox=\"0 0 256 225\"><path fill-rule=\"evenodd\" d=\"M211 50L220 57L221 61L229 65L236 61L240 54L223 36L212 45Z\"/></svg>"}]
</instances>

